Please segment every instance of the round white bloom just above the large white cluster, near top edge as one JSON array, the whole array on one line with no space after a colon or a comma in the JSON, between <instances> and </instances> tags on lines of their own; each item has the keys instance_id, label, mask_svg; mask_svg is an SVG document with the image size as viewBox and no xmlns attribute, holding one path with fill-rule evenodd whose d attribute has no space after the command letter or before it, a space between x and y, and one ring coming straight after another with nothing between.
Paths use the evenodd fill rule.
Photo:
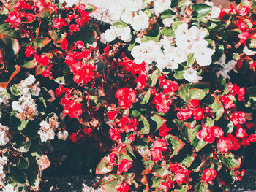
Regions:
<instances>
[{"instance_id":1,"label":"round white bloom just above the large white cluster, near top edge","mask_svg":"<svg viewBox=\"0 0 256 192\"><path fill-rule=\"evenodd\" d=\"M140 11L139 14L136 13L135 17L132 18L132 23L131 23L132 28L135 31L146 29L149 26L148 20L149 20L148 15L146 15L145 12Z\"/></svg>"}]
</instances>

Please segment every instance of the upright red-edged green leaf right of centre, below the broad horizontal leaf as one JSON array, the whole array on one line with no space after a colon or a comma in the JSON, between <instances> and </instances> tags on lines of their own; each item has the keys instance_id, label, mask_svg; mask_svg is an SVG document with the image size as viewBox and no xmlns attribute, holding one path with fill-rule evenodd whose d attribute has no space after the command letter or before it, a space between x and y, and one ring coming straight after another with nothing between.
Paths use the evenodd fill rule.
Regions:
<instances>
[{"instance_id":1,"label":"upright red-edged green leaf right of centre, below the broad horizontal leaf","mask_svg":"<svg viewBox=\"0 0 256 192\"><path fill-rule=\"evenodd\" d=\"M225 111L223 104L219 100L219 98L215 94L208 96L208 98L206 99L206 104L208 105L208 107L211 107L211 109L214 110L215 120L219 120Z\"/></svg>"}]
</instances>

